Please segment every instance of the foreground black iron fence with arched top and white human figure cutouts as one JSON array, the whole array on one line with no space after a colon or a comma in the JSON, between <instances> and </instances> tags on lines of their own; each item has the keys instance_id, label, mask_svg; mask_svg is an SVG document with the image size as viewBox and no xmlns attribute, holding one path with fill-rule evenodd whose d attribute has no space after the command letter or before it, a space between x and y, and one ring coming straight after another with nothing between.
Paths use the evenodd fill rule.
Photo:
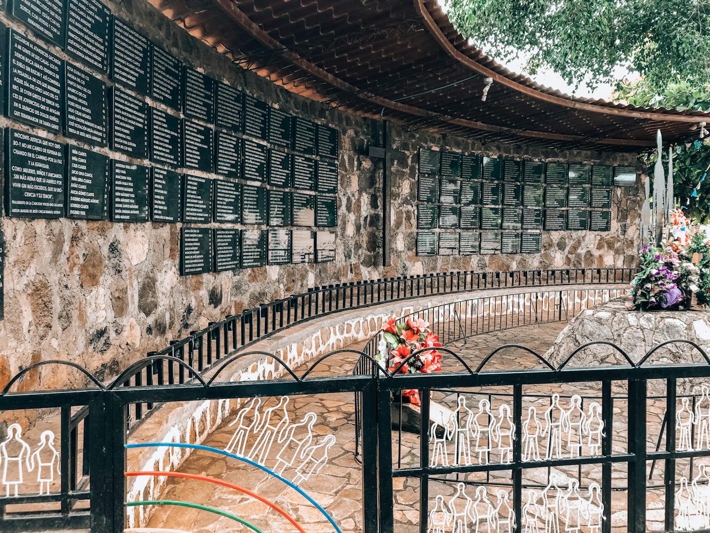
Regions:
<instances>
[{"instance_id":1,"label":"foreground black iron fence with arched top and white human figure cutouts","mask_svg":"<svg viewBox=\"0 0 710 533\"><path fill-rule=\"evenodd\" d=\"M599 344L608 347L608 343ZM409 501L405 508L417 511L417 524L422 532L435 530L430 526L436 525L432 522L438 524L446 520L444 511L452 515L457 509L460 511L457 507L459 503L466 502L469 506L466 507L467 523L457 530L461 533L472 532L476 526L481 526L479 531L498 531L498 525L502 525L500 531L511 533L544 531L545 520L551 516L559 524L564 520L569 522L572 516L572 524L564 522L564 530L581 531L579 519L584 515L584 519L589 520L590 512L596 512L599 520L594 524L590 522L592 529L588 530L608 533L613 522L615 527L624 527L630 532L645 532L647 497L652 495L652 491L661 492L658 508L663 515L662 530L702 530L704 527L697 524L706 517L706 491L710 489L705 478L701 478L699 468L701 465L704 468L710 458L710 436L706 435L703 440L699 435L710 430L710 410L706 405L710 397L707 390L692 392L690 397L695 396L693 404L697 408L697 416L694 419L679 416L679 413L687 414L689 404L688 394L679 393L679 388L700 388L710 384L710 358L697 345L692 345L696 354L694 358L699 362L652 364L654 354L658 355L660 350L677 351L682 345L692 343L665 343L648 352L637 363L632 362L623 350L612 347L626 361L626 365L593 368L572 367L576 352L555 367L542 356L524 350L523 354L530 357L530 361L539 362L540 368L513 371L487 368L496 363L496 357L503 348L516 347L494 350L475 370L459 355L442 348L439 350L445 352L449 367L457 366L463 370L450 372L444 369L444 372L434 375L401 375L383 371L373 375L314 377L319 365L332 357L342 359L346 353L353 361L357 357L367 357L363 352L339 350L322 357L301 375L285 367L285 379L260 382L217 382L217 377L205 381L197 369L187 363L175 357L158 356L152 361L180 366L186 378L194 379L190 382L186 379L183 384L123 387L118 386L121 378L114 385L104 387L89 375L95 384L92 389L12 392L18 379L31 370L28 368L0 394L0 413L4 419L11 419L16 411L28 409L55 409L60 412L56 428L60 479L51 483L45 494L27 494L21 490L14 495L11 488L22 488L24 485L7 485L8 481L13 483L16 478L5 475L2 482L8 488L9 496L0 498L0 529L19 532L89 527L92 532L122 532L126 522L126 505L147 505L141 501L126 501L125 447L129 437L127 425L131 405L184 404L198 400L283 395L322 397L356 392L363 399L362 416L371 421L362 426L361 436L360 523L367 533L398 530L400 522L395 519L395 510L401 510L403 504L398 500L402 491L393 488L393 480L396 479L415 482L418 504ZM594 345L581 349L594 349ZM239 357L242 356L225 363L234 362ZM516 360L520 361L522 357ZM283 364L279 360L277 362ZM65 362L40 363L45 364L67 365ZM655 392L649 393L649 387ZM658 387L662 388L662 392L657 392ZM403 389L419 392L420 420L424 421L420 421L414 434L404 437L392 427L392 414L402 405ZM559 392L559 389L567 392ZM568 394L570 389L573 394ZM598 393L584 392L589 389ZM576 403L574 397L577 394L586 395L589 409L581 402ZM458 412L454 410L461 407L462 397L468 398L470 414L461 409ZM595 403L597 408L592 407ZM441 409L447 405L455 416L447 419L442 416L437 429L434 425L436 420L430 424L431 415L433 412L446 412ZM535 405L539 412L537 418L533 416L531 419L530 408ZM698 408L699 405L703 407ZM556 406L558 411L555 411ZM590 423L584 426L574 419L573 411L580 407L579 412L589 414L589 420L596 425L591 426ZM659 407L660 411L654 414ZM551 410L550 413L546 412L547 409ZM567 414L561 414L562 411ZM665 432L665 446L656 447L655 436L661 424L661 414L674 422L665 424L662 430ZM476 419L476 416L480 418ZM653 416L655 418L652 419ZM534 428L537 427L531 420L544 420L540 424L547 429L542 434L545 439L538 435L537 453L535 446L530 444L530 436L535 434ZM353 422L349 420L349 423ZM582 429L583 426L586 429ZM570 438L571 428L574 427L579 430L574 438ZM398 456L395 456L398 434L400 439L408 439L408 451L397 452ZM596 435L597 440L588 439L588 435ZM18 434L11 431L7 441L0 443L0 448L11 443L16 436ZM503 444L506 438L507 444ZM40 438L40 443L43 441L46 439ZM158 445L190 446L190 443L143 443L140 446ZM348 446L349 443L339 445ZM75 453L72 453L72 448ZM28 449L26 453L31 451ZM23 452L16 449L9 455L16 458L17 453L20 453L21 461L26 459ZM79 455L81 461L72 462ZM3 455L0 449L0 456L6 461L8 454ZM687 461L690 458L694 459L695 464L690 465L688 470ZM652 463L662 464L662 484L657 480L648 480ZM584 469L586 478L567 475L564 480L565 485L569 485L560 487L556 476L564 475L566 469L575 473ZM537 470L545 470L547 477L530 478L530 473ZM620 484L618 473L622 470L624 475ZM599 473L596 478L595 472ZM592 483L588 479L590 476L594 480ZM498 488L498 492L492 488ZM692 490L696 492L691 493ZM621 503L618 497L612 497L614 491L625 496ZM581 507L579 494L584 495L584 507ZM332 496L337 502L337 494ZM447 502L447 505L441 507L442 502ZM471 507L474 502L480 507L476 507L475 512ZM49 508L48 504L53 504L53 507ZM626 519L614 516L612 521L620 508L626 510L627 514L623 515ZM336 517L330 524L338 531L337 514L329 514L328 505L324 506L324 513L331 518ZM452 517L449 516L449 519ZM463 520L461 516L454 516L453 519ZM537 529L525 529L532 519L540 522ZM594 529L595 524L598 524L598 529Z\"/></svg>"}]
</instances>

